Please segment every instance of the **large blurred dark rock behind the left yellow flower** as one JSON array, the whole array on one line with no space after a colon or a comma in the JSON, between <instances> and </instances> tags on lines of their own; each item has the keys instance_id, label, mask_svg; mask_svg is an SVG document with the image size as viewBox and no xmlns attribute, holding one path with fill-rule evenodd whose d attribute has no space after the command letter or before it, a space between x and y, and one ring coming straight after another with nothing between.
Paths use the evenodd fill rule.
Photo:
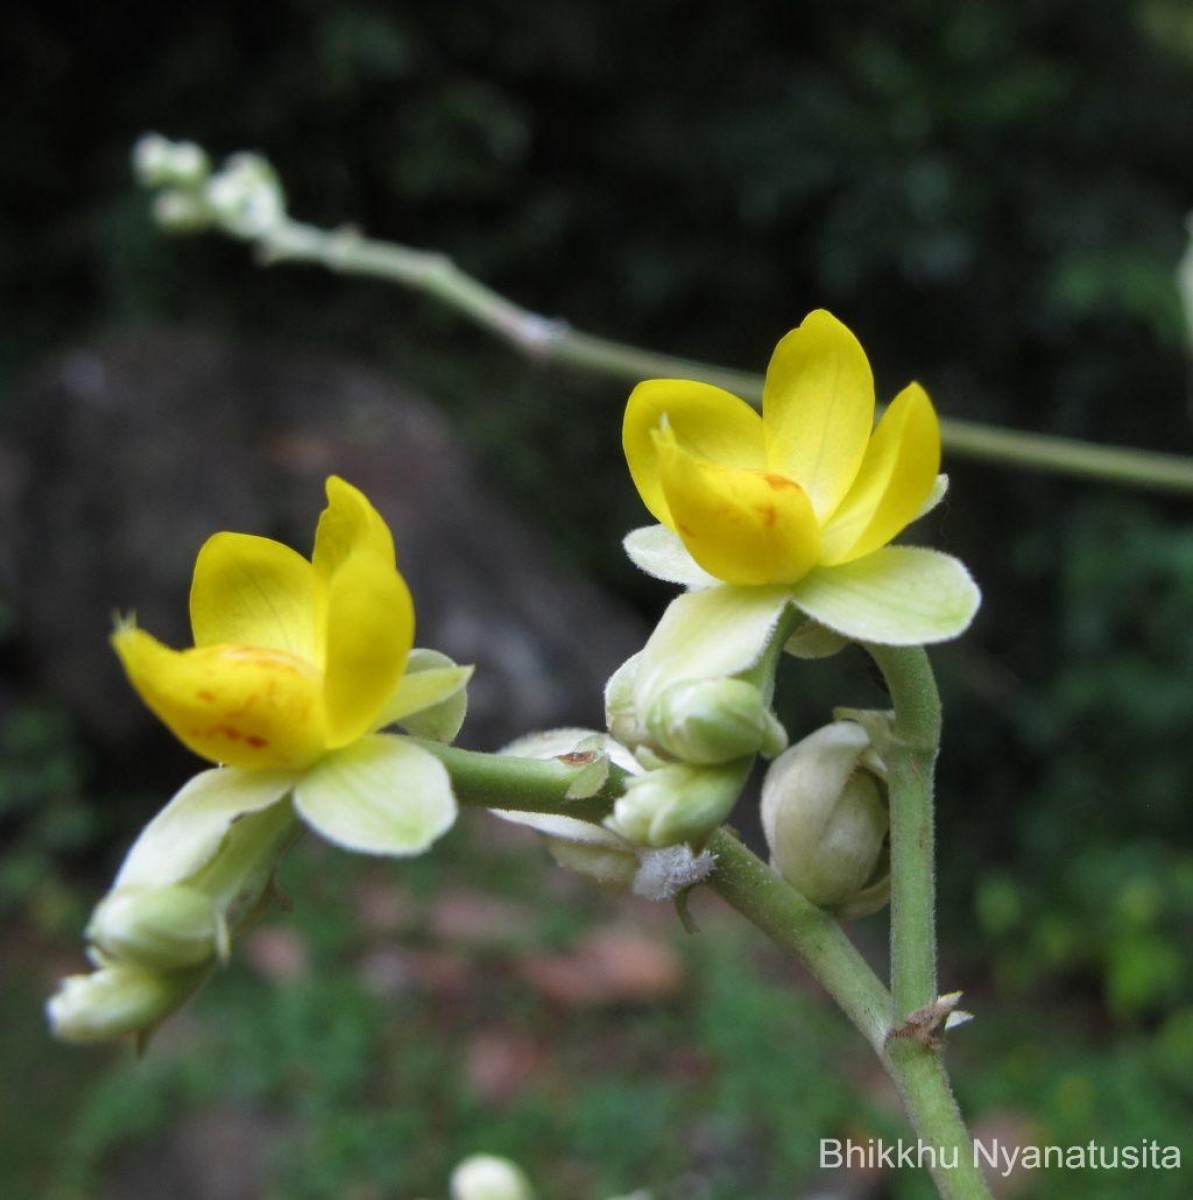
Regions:
<instances>
[{"instance_id":1,"label":"large blurred dark rock behind the left yellow flower","mask_svg":"<svg viewBox=\"0 0 1193 1200\"><path fill-rule=\"evenodd\" d=\"M599 722L605 679L643 640L511 514L442 414L352 362L185 329L125 335L48 365L5 426L0 587L22 659L127 768L163 734L108 649L113 611L187 644L203 541L233 529L308 552L330 473L391 522L418 643L476 664L464 744Z\"/></svg>"}]
</instances>

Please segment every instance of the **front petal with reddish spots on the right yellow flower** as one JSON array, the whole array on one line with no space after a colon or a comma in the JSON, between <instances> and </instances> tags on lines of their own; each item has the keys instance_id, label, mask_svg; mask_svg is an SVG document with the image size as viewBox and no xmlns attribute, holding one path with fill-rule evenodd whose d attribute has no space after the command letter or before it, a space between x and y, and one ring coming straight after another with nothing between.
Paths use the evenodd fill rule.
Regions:
<instances>
[{"instance_id":1,"label":"front petal with reddish spots on the right yellow flower","mask_svg":"<svg viewBox=\"0 0 1193 1200\"><path fill-rule=\"evenodd\" d=\"M664 428L659 478L691 557L726 583L791 583L815 565L820 528L804 490L783 475L699 458Z\"/></svg>"}]
</instances>

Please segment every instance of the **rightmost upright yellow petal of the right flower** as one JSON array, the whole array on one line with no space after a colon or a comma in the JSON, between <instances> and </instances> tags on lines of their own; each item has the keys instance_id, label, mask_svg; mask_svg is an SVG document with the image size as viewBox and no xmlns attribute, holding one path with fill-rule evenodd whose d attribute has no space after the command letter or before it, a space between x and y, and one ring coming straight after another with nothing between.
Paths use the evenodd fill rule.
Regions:
<instances>
[{"instance_id":1,"label":"rightmost upright yellow petal of the right flower","mask_svg":"<svg viewBox=\"0 0 1193 1200\"><path fill-rule=\"evenodd\" d=\"M940 421L913 383L883 413L857 480L822 533L821 562L849 563L885 546L918 516L940 469Z\"/></svg>"}]
</instances>

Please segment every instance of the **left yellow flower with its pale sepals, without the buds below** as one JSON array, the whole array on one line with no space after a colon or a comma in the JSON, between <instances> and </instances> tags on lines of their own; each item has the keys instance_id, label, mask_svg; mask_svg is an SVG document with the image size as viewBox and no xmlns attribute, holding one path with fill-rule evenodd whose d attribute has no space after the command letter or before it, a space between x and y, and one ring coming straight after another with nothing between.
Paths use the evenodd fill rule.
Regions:
<instances>
[{"instance_id":1,"label":"left yellow flower with its pale sepals, without the buds below","mask_svg":"<svg viewBox=\"0 0 1193 1200\"><path fill-rule=\"evenodd\" d=\"M268 538L218 533L191 584L194 647L133 624L112 642L145 703L196 754L196 776L142 834L121 886L185 881L232 822L293 798L323 836L420 853L456 814L446 770L408 732L448 742L470 667L412 649L414 606L394 538L361 492L328 480L311 560Z\"/></svg>"}]
</instances>

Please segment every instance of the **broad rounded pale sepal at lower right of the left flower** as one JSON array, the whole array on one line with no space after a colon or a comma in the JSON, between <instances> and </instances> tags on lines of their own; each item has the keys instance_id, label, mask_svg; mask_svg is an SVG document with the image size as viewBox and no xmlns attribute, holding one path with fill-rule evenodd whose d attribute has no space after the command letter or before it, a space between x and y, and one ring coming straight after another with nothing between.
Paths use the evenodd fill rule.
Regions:
<instances>
[{"instance_id":1,"label":"broad rounded pale sepal at lower right of the left flower","mask_svg":"<svg viewBox=\"0 0 1193 1200\"><path fill-rule=\"evenodd\" d=\"M328 841L365 854L421 854L456 820L443 763L389 733L320 758L295 785L294 808Z\"/></svg>"}]
</instances>

